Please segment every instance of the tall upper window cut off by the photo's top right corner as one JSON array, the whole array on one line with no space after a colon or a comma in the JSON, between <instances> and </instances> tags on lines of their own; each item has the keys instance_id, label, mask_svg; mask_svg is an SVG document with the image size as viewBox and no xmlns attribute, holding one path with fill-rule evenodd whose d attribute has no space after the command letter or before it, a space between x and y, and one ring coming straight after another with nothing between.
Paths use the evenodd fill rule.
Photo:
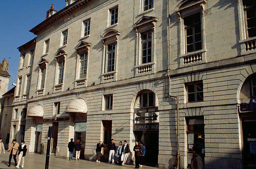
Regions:
<instances>
[{"instance_id":1,"label":"tall upper window cut off by the photo's top right corner","mask_svg":"<svg viewBox=\"0 0 256 169\"><path fill-rule=\"evenodd\" d=\"M243 0L248 38L256 36L256 1Z\"/></svg>"}]
</instances>

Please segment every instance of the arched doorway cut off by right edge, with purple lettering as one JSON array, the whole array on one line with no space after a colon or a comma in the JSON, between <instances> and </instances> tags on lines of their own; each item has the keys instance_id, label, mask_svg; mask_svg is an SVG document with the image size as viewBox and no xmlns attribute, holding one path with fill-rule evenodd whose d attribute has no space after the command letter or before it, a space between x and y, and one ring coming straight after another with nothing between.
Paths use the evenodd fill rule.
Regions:
<instances>
[{"instance_id":1,"label":"arched doorway cut off by right edge, with purple lettering","mask_svg":"<svg viewBox=\"0 0 256 169\"><path fill-rule=\"evenodd\" d=\"M239 117L242 126L243 168L256 168L256 73L248 76L238 90Z\"/></svg>"}]
</instances>

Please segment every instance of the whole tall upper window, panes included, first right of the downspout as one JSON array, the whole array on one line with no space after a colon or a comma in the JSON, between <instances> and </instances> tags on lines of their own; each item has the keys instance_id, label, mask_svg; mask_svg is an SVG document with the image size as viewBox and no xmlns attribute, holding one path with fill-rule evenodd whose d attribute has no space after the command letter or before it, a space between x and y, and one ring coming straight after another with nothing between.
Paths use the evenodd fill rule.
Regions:
<instances>
[{"instance_id":1,"label":"whole tall upper window, panes included, first right of the downspout","mask_svg":"<svg viewBox=\"0 0 256 169\"><path fill-rule=\"evenodd\" d=\"M186 32L186 52L193 52L202 49L201 37L201 14L184 18L185 32Z\"/></svg>"}]
</instances>

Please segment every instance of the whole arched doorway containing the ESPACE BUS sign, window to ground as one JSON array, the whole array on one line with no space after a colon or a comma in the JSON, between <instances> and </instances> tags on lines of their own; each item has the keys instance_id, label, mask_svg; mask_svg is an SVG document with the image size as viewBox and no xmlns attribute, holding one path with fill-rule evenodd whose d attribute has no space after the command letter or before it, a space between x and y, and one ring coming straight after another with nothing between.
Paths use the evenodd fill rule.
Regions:
<instances>
[{"instance_id":1,"label":"whole arched doorway containing the ESPACE BUS sign, window to ground","mask_svg":"<svg viewBox=\"0 0 256 169\"><path fill-rule=\"evenodd\" d=\"M141 90L134 103L135 139L145 144L146 153L142 165L156 166L159 151L158 98L151 90Z\"/></svg>"}]
</instances>

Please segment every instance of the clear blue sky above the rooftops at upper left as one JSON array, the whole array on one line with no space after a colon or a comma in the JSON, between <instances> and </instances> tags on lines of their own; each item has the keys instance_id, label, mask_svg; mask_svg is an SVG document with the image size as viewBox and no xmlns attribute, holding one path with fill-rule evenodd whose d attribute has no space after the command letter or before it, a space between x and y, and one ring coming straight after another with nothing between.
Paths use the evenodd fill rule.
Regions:
<instances>
[{"instance_id":1,"label":"clear blue sky above the rooftops at upper left","mask_svg":"<svg viewBox=\"0 0 256 169\"><path fill-rule=\"evenodd\" d=\"M65 0L0 0L0 61L11 58L8 89L16 83L20 57L17 47L36 37L29 30L46 19L52 3L58 11L66 6Z\"/></svg>"}]
</instances>

